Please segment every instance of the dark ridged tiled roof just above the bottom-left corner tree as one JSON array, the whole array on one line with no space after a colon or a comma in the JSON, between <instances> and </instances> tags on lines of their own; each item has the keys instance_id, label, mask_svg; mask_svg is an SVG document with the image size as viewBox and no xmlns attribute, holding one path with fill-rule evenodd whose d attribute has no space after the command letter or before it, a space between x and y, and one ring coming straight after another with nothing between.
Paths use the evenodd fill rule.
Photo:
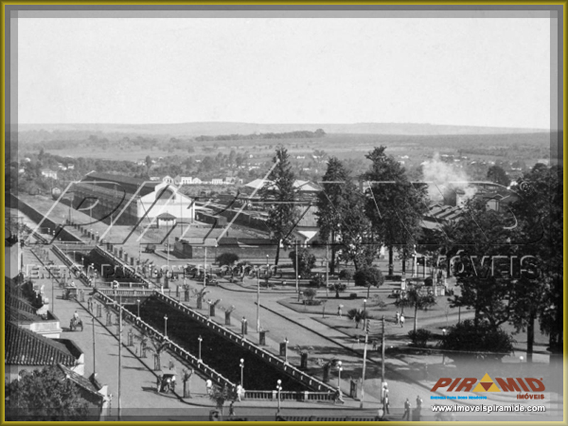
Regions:
<instances>
[{"instance_id":1,"label":"dark ridged tiled roof just above the bottom-left corner tree","mask_svg":"<svg viewBox=\"0 0 568 426\"><path fill-rule=\"evenodd\" d=\"M77 361L65 344L18 327L12 322L6 322L5 343L5 364L74 366Z\"/></svg>"}]
</instances>

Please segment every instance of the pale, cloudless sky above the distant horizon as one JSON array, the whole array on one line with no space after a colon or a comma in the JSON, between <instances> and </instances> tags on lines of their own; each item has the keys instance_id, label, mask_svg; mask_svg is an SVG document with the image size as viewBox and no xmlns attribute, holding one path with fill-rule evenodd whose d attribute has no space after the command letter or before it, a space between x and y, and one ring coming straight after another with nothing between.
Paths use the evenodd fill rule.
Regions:
<instances>
[{"instance_id":1,"label":"pale, cloudless sky above the distant horizon","mask_svg":"<svg viewBox=\"0 0 568 426\"><path fill-rule=\"evenodd\" d=\"M21 124L550 129L547 18L19 18Z\"/></svg>"}]
</instances>

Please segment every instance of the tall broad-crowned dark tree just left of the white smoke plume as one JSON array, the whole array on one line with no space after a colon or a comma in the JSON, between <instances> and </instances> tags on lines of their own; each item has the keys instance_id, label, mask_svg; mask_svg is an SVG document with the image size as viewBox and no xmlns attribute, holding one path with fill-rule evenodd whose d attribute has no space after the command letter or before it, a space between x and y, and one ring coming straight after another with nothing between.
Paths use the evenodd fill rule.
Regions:
<instances>
[{"instance_id":1,"label":"tall broad-crowned dark tree just left of the white smoke plume","mask_svg":"<svg viewBox=\"0 0 568 426\"><path fill-rule=\"evenodd\" d=\"M375 148L366 155L371 168L364 174L371 183L367 213L378 239L388 248L388 275L393 275L393 248L413 250L422 229L422 214L427 211L425 185L413 185L405 169L386 147Z\"/></svg>"}]
</instances>

